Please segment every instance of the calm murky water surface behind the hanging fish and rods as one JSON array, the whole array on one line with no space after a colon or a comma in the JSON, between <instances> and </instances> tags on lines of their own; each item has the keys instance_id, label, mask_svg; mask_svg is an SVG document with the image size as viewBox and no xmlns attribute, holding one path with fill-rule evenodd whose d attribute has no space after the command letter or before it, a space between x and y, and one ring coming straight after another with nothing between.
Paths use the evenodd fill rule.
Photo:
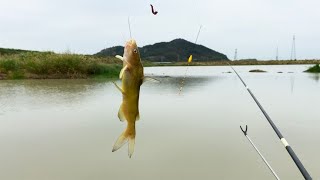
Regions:
<instances>
[{"instance_id":1,"label":"calm murky water surface behind the hanging fish and rods","mask_svg":"<svg viewBox=\"0 0 320 180\"><path fill-rule=\"evenodd\" d=\"M236 66L310 174L320 177L320 83L305 66ZM249 73L261 68L268 72ZM302 179L229 67L145 68L135 154L112 153L125 123L109 81L0 81L0 179ZM277 73L282 71L284 73ZM293 72L293 73L287 73ZM318 77L319 78L319 77ZM120 82L118 82L120 83Z\"/></svg>"}]
</instances>

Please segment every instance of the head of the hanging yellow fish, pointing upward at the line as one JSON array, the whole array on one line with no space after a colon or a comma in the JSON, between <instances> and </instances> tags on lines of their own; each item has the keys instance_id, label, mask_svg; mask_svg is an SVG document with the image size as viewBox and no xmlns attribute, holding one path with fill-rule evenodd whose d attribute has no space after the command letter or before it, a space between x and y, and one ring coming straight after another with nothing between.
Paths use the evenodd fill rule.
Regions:
<instances>
[{"instance_id":1,"label":"head of the hanging yellow fish, pointing upward at the line","mask_svg":"<svg viewBox=\"0 0 320 180\"><path fill-rule=\"evenodd\" d=\"M141 63L139 49L134 39L126 42L123 57L129 64L134 65Z\"/></svg>"}]
</instances>

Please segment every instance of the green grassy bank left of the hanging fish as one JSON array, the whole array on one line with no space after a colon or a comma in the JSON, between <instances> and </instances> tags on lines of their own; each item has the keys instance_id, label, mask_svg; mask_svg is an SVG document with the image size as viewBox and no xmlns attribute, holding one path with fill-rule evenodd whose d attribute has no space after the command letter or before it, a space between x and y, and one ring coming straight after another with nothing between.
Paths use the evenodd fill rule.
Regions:
<instances>
[{"instance_id":1,"label":"green grassy bank left of the hanging fish","mask_svg":"<svg viewBox=\"0 0 320 180\"><path fill-rule=\"evenodd\" d=\"M52 52L0 55L0 79L117 77L122 63L113 57Z\"/></svg>"}]
</instances>

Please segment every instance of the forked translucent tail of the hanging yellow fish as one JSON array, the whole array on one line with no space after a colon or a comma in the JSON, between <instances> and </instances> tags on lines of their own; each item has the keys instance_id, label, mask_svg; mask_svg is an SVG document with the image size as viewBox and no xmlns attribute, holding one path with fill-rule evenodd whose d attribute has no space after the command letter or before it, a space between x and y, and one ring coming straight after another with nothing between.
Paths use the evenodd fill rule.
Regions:
<instances>
[{"instance_id":1,"label":"forked translucent tail of the hanging yellow fish","mask_svg":"<svg viewBox=\"0 0 320 180\"><path fill-rule=\"evenodd\" d=\"M134 152L135 137L136 137L135 126L128 124L127 129L119 136L116 143L114 143L112 152L120 149L126 142L129 142L128 155L131 158Z\"/></svg>"}]
</instances>

